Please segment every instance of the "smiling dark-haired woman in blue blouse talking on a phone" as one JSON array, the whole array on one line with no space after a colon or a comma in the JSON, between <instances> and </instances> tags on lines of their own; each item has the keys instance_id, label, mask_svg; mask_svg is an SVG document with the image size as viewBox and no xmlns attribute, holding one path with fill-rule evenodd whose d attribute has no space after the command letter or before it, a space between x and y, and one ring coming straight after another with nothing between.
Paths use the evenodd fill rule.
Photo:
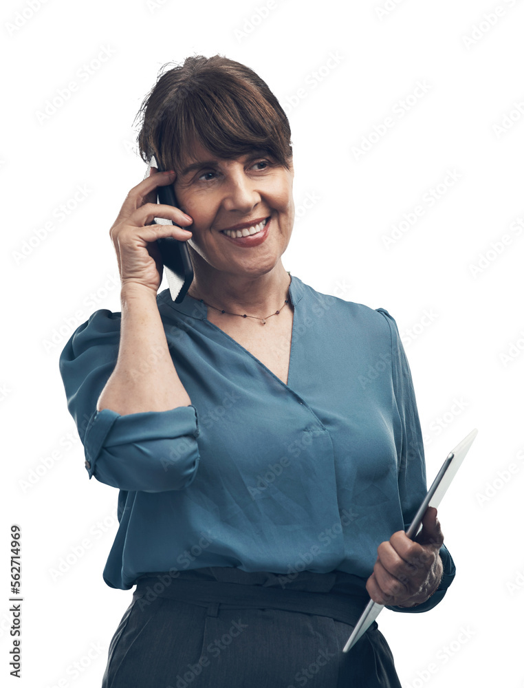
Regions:
<instances>
[{"instance_id":1,"label":"smiling dark-haired woman in blue blouse talking on a phone","mask_svg":"<svg viewBox=\"0 0 524 688\"><path fill-rule=\"evenodd\" d=\"M400 687L376 622L342 653L369 596L424 612L455 575L435 509L404 533L426 474L397 325L285 270L290 127L251 69L187 58L142 114L168 172L111 227L121 312L60 361L89 478L120 490L104 580L136 585L103 686ZM181 303L157 294L170 236L195 272Z\"/></svg>"}]
</instances>

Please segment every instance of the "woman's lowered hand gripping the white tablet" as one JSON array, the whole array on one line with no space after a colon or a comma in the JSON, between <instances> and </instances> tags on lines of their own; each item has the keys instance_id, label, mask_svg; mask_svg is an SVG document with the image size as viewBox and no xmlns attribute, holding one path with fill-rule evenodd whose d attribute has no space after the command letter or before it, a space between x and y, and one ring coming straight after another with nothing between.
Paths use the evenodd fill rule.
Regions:
<instances>
[{"instance_id":1,"label":"woman's lowered hand gripping the white tablet","mask_svg":"<svg viewBox=\"0 0 524 688\"><path fill-rule=\"evenodd\" d=\"M415 540L399 530L378 546L377 561L366 583L371 599L401 607L425 602L437 590L442 577L439 549L443 543L437 509L428 507Z\"/></svg>"}]
</instances>

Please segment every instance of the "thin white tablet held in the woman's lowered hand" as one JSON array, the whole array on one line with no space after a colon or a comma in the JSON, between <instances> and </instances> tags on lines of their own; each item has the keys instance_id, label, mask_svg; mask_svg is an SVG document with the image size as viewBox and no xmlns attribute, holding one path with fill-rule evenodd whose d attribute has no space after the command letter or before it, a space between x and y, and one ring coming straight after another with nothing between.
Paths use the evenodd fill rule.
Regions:
<instances>
[{"instance_id":1,"label":"thin white tablet held in the woman's lowered hand","mask_svg":"<svg viewBox=\"0 0 524 688\"><path fill-rule=\"evenodd\" d=\"M422 500L422 504L419 506L419 510L417 511L411 526L409 526L408 530L406 530L406 535L411 539L413 539L413 537L415 537L422 528L422 519L424 518L424 514L426 513L428 506L435 506L435 508L439 506L440 500L442 497L444 497L446 490L459 470L459 466L462 463L463 458L468 453L468 449L470 449L474 438L477 437L477 432L478 430L472 430L470 434L465 437L462 442L459 442L457 447L452 449L452 451L450 451L448 454L448 457L444 461L444 464L442 464L440 471L437 473L437 477L435 477L435 480L433 480L433 484L429 488L428 494ZM348 652L351 647L353 647L353 645L360 640L380 612L382 612L384 606L385 605L373 602L373 600L369 601L367 607L362 612L357 625L353 629L353 633L351 636L349 636L349 640L347 641L342 652Z\"/></svg>"}]
</instances>

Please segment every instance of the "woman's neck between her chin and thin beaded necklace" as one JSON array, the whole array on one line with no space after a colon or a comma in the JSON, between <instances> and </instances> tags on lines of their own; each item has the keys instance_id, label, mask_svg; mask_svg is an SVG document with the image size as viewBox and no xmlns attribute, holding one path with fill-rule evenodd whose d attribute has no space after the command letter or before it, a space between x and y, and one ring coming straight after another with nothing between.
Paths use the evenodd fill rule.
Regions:
<instances>
[{"instance_id":1,"label":"woman's neck between her chin and thin beaded necklace","mask_svg":"<svg viewBox=\"0 0 524 688\"><path fill-rule=\"evenodd\" d=\"M199 270L193 261L195 278L188 290L193 299L202 299L228 313L268 316L288 298L290 275L281 260L264 275L232 275L222 270Z\"/></svg>"}]
</instances>

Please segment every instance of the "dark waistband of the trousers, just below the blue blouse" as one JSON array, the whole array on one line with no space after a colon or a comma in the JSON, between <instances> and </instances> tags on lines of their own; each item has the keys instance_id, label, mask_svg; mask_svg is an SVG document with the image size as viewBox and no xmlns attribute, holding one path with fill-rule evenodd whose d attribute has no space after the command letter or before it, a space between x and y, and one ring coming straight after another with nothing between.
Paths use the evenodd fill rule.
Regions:
<instances>
[{"instance_id":1,"label":"dark waistband of the trousers, just below the blue blouse","mask_svg":"<svg viewBox=\"0 0 524 688\"><path fill-rule=\"evenodd\" d=\"M157 597L208 607L208 614L223 609L271 608L329 616L355 626L369 602L365 580L345 572L319 574L303 571L290 579L270 572L245 572L212 567L184 572L144 574L137 581L133 600L140 606ZM211 611L209 611L209 608ZM373 623L372 627L377 627Z\"/></svg>"}]
</instances>

